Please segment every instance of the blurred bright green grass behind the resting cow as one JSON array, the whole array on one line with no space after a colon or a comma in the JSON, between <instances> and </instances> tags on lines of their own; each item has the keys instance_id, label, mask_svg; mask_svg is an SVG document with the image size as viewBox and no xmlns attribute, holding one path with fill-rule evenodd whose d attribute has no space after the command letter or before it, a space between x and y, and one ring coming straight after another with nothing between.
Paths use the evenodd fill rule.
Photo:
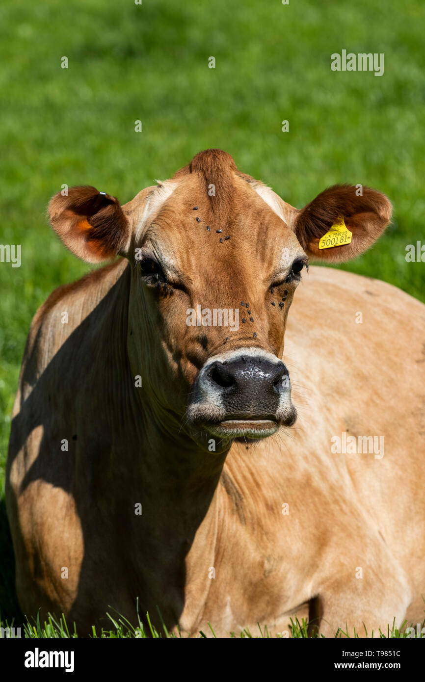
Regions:
<instances>
[{"instance_id":1,"label":"blurred bright green grass behind the resting cow","mask_svg":"<svg viewBox=\"0 0 425 682\"><path fill-rule=\"evenodd\" d=\"M297 207L333 183L362 183L391 198L394 222L344 267L425 300L424 265L405 261L405 246L423 238L424 25L420 0L3 0L0 243L21 244L22 265L0 264L1 486L31 318L90 268L47 226L63 183L125 203L209 147ZM343 48L384 53L384 75L332 72ZM2 495L0 616L10 619Z\"/></svg>"}]
</instances>

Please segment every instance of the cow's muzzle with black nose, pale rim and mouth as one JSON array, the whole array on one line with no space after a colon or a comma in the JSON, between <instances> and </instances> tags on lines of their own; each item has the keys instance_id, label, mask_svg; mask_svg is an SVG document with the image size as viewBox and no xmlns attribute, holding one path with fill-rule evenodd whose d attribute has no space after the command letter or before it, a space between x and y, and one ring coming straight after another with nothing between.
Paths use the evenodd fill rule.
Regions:
<instances>
[{"instance_id":1,"label":"cow's muzzle with black nose, pale rim and mouth","mask_svg":"<svg viewBox=\"0 0 425 682\"><path fill-rule=\"evenodd\" d=\"M211 358L199 373L188 409L192 423L222 438L265 438L292 426L289 372L278 357L241 349Z\"/></svg>"}]
</instances>

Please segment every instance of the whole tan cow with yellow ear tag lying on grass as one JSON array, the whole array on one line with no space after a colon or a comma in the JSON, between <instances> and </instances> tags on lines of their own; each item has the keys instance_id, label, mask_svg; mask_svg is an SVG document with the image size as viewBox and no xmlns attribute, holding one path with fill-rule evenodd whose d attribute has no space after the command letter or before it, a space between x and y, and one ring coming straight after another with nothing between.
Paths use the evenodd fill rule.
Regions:
<instances>
[{"instance_id":1,"label":"whole tan cow with yellow ear tag lying on grass","mask_svg":"<svg viewBox=\"0 0 425 682\"><path fill-rule=\"evenodd\" d=\"M372 246L387 197L295 209L210 149L125 205L84 186L48 213L111 263L29 331L6 481L23 612L85 636L111 609L187 636L422 623L425 307L308 270Z\"/></svg>"}]
</instances>

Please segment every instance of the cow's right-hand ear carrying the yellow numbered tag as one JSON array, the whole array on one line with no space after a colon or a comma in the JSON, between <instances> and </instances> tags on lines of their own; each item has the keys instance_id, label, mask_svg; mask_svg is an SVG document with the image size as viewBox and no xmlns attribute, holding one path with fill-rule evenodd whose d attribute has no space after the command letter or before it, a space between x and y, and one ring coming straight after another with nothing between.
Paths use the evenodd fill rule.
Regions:
<instances>
[{"instance_id":1,"label":"cow's right-hand ear carrying the yellow numbered tag","mask_svg":"<svg viewBox=\"0 0 425 682\"><path fill-rule=\"evenodd\" d=\"M335 185L296 211L292 228L308 256L340 263L364 253L383 233L391 213L385 194Z\"/></svg>"}]
</instances>

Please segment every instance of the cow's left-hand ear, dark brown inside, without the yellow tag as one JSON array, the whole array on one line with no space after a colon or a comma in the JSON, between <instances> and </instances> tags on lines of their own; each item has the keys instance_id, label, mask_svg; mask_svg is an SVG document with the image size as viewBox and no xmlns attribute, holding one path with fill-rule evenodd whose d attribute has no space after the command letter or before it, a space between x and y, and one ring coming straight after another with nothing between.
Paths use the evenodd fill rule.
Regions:
<instances>
[{"instance_id":1,"label":"cow's left-hand ear, dark brown inside, without the yellow tag","mask_svg":"<svg viewBox=\"0 0 425 682\"><path fill-rule=\"evenodd\" d=\"M118 199L94 187L72 187L68 196L55 194L48 216L65 246L87 263L108 261L128 243L128 220Z\"/></svg>"}]
</instances>

